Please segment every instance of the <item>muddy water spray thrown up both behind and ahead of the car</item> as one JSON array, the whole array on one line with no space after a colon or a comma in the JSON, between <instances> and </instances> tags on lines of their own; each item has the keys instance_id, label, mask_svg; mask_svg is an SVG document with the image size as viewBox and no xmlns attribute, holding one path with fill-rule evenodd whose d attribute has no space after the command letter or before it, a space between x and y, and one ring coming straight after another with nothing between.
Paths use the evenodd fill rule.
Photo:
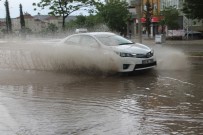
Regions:
<instances>
[{"instance_id":1,"label":"muddy water spray thrown up both behind and ahead of the car","mask_svg":"<svg viewBox=\"0 0 203 135\"><path fill-rule=\"evenodd\" d=\"M73 45L56 45L59 40L0 42L0 68L65 72L117 72L119 56L110 50ZM189 67L180 50L157 46L157 70L181 70Z\"/></svg>"}]
</instances>

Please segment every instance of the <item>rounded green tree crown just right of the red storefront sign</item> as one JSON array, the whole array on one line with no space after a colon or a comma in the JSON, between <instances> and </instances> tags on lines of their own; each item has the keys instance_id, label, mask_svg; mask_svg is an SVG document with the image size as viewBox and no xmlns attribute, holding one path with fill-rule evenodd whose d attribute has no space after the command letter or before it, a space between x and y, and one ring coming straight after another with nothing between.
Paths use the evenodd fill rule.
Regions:
<instances>
[{"instance_id":1,"label":"rounded green tree crown just right of the red storefront sign","mask_svg":"<svg viewBox=\"0 0 203 135\"><path fill-rule=\"evenodd\" d=\"M160 21L160 25L167 25L169 29L178 29L179 24L177 22L179 12L175 7L165 7L163 11L161 11L161 15L163 18Z\"/></svg>"}]
</instances>

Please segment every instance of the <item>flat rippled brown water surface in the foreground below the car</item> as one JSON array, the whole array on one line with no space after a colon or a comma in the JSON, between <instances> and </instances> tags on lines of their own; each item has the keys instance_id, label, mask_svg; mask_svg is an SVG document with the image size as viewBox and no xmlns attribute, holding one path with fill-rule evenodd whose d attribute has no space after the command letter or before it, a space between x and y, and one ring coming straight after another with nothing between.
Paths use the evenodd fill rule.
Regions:
<instances>
[{"instance_id":1,"label":"flat rippled brown water surface in the foreground below the car","mask_svg":"<svg viewBox=\"0 0 203 135\"><path fill-rule=\"evenodd\" d=\"M202 68L193 69L101 77L2 70L0 133L201 134Z\"/></svg>"}]
</instances>

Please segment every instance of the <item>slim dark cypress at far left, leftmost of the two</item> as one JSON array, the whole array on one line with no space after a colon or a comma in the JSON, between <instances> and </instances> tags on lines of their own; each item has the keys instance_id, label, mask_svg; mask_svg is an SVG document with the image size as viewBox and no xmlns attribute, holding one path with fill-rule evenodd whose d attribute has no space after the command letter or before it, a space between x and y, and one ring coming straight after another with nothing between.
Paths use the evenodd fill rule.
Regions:
<instances>
[{"instance_id":1,"label":"slim dark cypress at far left, leftmost of the two","mask_svg":"<svg viewBox=\"0 0 203 135\"><path fill-rule=\"evenodd\" d=\"M9 12L8 0L5 1L4 5L6 8L6 31L7 31L7 33L11 33L12 32L12 23L11 23L11 17L10 17L10 12Z\"/></svg>"}]
</instances>

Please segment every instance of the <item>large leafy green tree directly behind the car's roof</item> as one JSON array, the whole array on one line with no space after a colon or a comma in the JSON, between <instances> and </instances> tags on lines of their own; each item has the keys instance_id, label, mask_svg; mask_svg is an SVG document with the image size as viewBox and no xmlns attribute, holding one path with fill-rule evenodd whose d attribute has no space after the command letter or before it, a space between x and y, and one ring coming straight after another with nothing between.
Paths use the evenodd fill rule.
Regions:
<instances>
[{"instance_id":1,"label":"large leafy green tree directly behind the car's roof","mask_svg":"<svg viewBox=\"0 0 203 135\"><path fill-rule=\"evenodd\" d=\"M105 24L122 35L127 31L127 20L130 18L128 4L125 1L110 0L106 4L97 5L98 14Z\"/></svg>"}]
</instances>

